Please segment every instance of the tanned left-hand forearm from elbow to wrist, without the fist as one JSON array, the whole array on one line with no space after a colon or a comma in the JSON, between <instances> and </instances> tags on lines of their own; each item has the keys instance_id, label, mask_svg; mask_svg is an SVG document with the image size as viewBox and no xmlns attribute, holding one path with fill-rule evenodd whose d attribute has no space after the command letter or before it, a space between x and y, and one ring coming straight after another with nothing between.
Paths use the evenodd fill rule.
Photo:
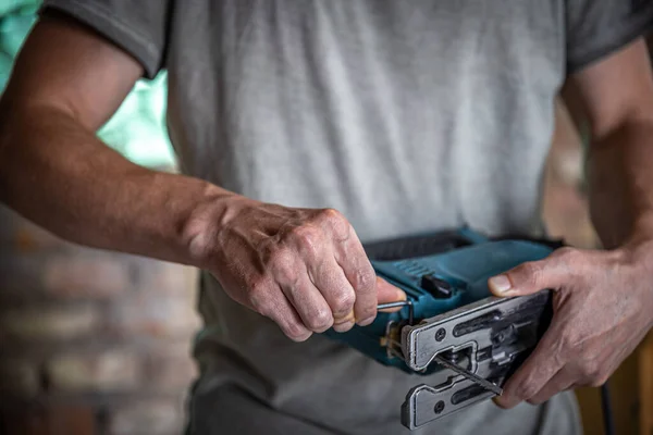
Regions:
<instances>
[{"instance_id":1,"label":"tanned left-hand forearm from elbow to wrist, without the fist","mask_svg":"<svg viewBox=\"0 0 653 435\"><path fill-rule=\"evenodd\" d=\"M71 241L194 262L189 217L227 191L128 162L65 110L1 112L0 201Z\"/></svg>"}]
</instances>

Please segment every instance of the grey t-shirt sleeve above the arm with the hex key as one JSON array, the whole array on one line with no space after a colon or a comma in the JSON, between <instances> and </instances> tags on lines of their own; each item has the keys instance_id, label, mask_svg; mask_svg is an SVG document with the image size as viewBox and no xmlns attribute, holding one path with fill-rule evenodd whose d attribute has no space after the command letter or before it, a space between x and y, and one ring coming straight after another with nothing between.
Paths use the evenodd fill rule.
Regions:
<instances>
[{"instance_id":1,"label":"grey t-shirt sleeve above the arm with the hex key","mask_svg":"<svg viewBox=\"0 0 653 435\"><path fill-rule=\"evenodd\" d=\"M40 15L63 13L125 50L147 78L164 67L172 0L44 0Z\"/></svg>"}]
</instances>

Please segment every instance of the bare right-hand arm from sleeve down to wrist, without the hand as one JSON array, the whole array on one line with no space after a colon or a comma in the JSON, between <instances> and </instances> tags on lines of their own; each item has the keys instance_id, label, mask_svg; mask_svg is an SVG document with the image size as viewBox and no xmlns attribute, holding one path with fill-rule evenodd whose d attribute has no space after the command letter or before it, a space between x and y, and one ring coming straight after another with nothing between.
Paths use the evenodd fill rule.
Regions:
<instances>
[{"instance_id":1,"label":"bare right-hand arm from sleeve down to wrist, without the hand","mask_svg":"<svg viewBox=\"0 0 653 435\"><path fill-rule=\"evenodd\" d=\"M640 39L601 65L570 77L567 105L590 134L590 213L615 248L653 236L653 79Z\"/></svg>"}]
</instances>

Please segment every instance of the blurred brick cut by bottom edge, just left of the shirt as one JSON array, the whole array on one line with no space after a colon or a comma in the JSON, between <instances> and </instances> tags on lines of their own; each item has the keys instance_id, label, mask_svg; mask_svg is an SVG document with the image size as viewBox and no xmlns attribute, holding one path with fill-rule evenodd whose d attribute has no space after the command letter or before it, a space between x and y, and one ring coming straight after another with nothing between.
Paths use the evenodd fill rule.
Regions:
<instances>
[{"instance_id":1,"label":"blurred brick cut by bottom edge, just left of the shirt","mask_svg":"<svg viewBox=\"0 0 653 435\"><path fill-rule=\"evenodd\" d=\"M111 435L168 435L184 428L183 410L172 399L132 401L111 413Z\"/></svg>"}]
</instances>

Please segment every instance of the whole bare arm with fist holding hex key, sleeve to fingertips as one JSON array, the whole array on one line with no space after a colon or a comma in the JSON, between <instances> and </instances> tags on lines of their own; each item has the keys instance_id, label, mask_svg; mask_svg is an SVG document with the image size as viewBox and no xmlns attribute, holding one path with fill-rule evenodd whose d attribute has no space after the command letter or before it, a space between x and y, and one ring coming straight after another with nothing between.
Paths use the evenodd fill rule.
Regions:
<instances>
[{"instance_id":1,"label":"whole bare arm with fist holding hex key, sleeve to fingertips","mask_svg":"<svg viewBox=\"0 0 653 435\"><path fill-rule=\"evenodd\" d=\"M335 210L262 203L101 144L95 132L141 74L77 25L37 24L0 101L0 200L69 240L206 269L295 340L369 324L378 301L405 298Z\"/></svg>"}]
</instances>

